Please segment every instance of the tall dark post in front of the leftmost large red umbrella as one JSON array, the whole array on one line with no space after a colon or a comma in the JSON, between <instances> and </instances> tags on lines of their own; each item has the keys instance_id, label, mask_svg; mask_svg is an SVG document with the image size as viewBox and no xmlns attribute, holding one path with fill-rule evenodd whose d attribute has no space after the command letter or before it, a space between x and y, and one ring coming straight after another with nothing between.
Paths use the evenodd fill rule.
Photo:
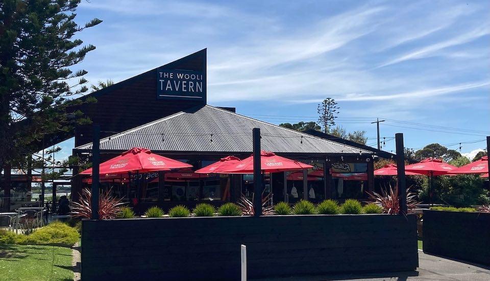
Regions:
<instances>
[{"instance_id":1,"label":"tall dark post in front of the leftmost large red umbrella","mask_svg":"<svg viewBox=\"0 0 490 281\"><path fill-rule=\"evenodd\" d=\"M100 174L100 135L101 126L93 125L93 142L92 142L92 220L99 219L99 174Z\"/></svg>"}]
</instances>

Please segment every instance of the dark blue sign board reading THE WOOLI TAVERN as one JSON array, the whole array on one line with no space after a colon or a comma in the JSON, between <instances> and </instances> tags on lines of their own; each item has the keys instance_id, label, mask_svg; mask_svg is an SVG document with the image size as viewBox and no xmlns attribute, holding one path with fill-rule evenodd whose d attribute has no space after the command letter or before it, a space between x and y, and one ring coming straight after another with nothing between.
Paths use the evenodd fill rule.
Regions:
<instances>
[{"instance_id":1,"label":"dark blue sign board reading THE WOOLI TAVERN","mask_svg":"<svg viewBox=\"0 0 490 281\"><path fill-rule=\"evenodd\" d=\"M205 97L204 72L157 68L158 100L205 100Z\"/></svg>"}]
</instances>

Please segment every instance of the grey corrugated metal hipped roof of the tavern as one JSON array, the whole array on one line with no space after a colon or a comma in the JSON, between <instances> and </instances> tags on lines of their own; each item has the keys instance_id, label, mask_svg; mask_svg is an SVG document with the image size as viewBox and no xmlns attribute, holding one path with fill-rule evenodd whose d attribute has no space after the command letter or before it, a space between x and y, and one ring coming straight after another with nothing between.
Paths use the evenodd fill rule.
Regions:
<instances>
[{"instance_id":1,"label":"grey corrugated metal hipped roof of the tavern","mask_svg":"<svg viewBox=\"0 0 490 281\"><path fill-rule=\"evenodd\" d=\"M103 138L101 150L144 147L171 152L251 152L253 128L260 128L262 149L276 153L372 153L209 105Z\"/></svg>"}]
</instances>

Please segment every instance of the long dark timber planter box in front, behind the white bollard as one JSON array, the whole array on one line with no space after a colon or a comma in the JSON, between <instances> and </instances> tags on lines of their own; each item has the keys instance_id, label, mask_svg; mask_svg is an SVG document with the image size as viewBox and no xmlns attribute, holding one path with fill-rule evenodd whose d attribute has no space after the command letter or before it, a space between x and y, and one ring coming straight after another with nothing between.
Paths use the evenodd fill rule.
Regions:
<instances>
[{"instance_id":1,"label":"long dark timber planter box in front, behind the white bollard","mask_svg":"<svg viewBox=\"0 0 490 281\"><path fill-rule=\"evenodd\" d=\"M414 215L158 218L82 222L83 280L238 280L414 270Z\"/></svg>"}]
</instances>

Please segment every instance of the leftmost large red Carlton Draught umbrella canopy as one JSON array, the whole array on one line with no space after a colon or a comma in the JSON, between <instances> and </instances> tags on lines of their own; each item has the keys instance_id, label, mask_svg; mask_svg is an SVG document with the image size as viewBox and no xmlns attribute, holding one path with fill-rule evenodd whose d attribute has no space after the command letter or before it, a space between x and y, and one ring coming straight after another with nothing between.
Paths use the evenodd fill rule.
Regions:
<instances>
[{"instance_id":1,"label":"leftmost large red Carlton Draught umbrella canopy","mask_svg":"<svg viewBox=\"0 0 490 281\"><path fill-rule=\"evenodd\" d=\"M191 168L192 165L152 153L146 148L132 148L119 156L99 165L100 174L123 174L128 172L168 171L170 169ZM81 174L92 174L92 168Z\"/></svg>"}]
</instances>

